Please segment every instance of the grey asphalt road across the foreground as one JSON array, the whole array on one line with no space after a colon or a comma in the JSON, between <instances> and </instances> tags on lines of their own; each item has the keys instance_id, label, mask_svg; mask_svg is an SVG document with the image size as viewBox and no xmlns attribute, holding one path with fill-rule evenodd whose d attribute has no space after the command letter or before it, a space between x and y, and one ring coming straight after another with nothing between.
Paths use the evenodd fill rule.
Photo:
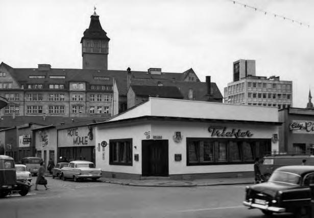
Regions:
<instances>
[{"instance_id":1,"label":"grey asphalt road across the foreground","mask_svg":"<svg viewBox=\"0 0 314 218\"><path fill-rule=\"evenodd\" d=\"M92 181L76 183L51 177L47 180L49 190L39 185L38 191L32 190L25 197L16 194L0 199L0 217L266 217L259 210L248 210L241 205L245 185L134 187Z\"/></svg>"}]
</instances>

